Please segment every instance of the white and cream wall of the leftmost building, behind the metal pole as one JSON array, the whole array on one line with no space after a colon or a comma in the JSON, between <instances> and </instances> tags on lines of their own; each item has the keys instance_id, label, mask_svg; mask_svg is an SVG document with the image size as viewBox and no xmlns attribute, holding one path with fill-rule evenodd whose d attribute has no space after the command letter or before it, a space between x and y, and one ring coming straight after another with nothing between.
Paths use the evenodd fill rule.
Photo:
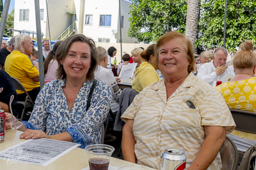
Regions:
<instances>
[{"instance_id":1,"label":"white and cream wall of the leftmost building, behind the metal pole","mask_svg":"<svg viewBox=\"0 0 256 170\"><path fill-rule=\"evenodd\" d=\"M44 9L44 20L41 20L41 32L44 33L44 38L49 38L49 29L47 23L47 8L45 0L40 0L40 9ZM20 21L20 10L29 9L29 21ZM48 1L49 25L51 39L57 38L69 25L72 24L73 15L67 12L74 12L74 1L70 0L54 0ZM28 30L36 32L35 18L35 1L34 0L19 0L15 1L14 13L14 29ZM15 32L19 34L19 32ZM32 36L32 35L31 35ZM35 34L36 37L36 34Z\"/></svg>"}]
</instances>

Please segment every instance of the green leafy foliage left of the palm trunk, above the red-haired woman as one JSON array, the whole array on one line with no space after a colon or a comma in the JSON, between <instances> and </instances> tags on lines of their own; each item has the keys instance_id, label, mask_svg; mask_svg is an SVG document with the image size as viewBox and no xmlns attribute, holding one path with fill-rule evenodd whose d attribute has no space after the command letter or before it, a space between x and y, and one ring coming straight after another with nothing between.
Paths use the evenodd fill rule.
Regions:
<instances>
[{"instance_id":1,"label":"green leafy foliage left of the palm trunk, above the red-haired woman","mask_svg":"<svg viewBox=\"0 0 256 170\"><path fill-rule=\"evenodd\" d=\"M129 37L148 43L156 41L168 31L185 31L186 0L132 0L131 2Z\"/></svg>"}]
</instances>

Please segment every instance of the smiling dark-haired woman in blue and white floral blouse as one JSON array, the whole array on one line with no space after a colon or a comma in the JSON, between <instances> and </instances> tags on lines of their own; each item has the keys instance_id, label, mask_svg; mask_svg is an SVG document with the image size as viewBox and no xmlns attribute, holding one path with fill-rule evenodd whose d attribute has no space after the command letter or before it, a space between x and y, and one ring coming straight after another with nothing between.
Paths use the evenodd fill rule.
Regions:
<instances>
[{"instance_id":1,"label":"smiling dark-haired woman in blue and white floral blouse","mask_svg":"<svg viewBox=\"0 0 256 170\"><path fill-rule=\"evenodd\" d=\"M38 94L28 122L22 122L21 139L49 138L81 144L100 143L103 121L108 115L111 91L97 81L90 108L88 94L98 65L95 43L82 34L65 39L56 52L56 80Z\"/></svg>"}]
</instances>

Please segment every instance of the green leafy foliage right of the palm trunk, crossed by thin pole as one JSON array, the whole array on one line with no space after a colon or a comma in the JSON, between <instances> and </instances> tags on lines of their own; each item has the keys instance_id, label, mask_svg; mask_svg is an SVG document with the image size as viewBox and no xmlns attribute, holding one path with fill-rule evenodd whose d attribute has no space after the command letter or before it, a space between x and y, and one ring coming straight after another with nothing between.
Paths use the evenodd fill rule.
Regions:
<instances>
[{"instance_id":1,"label":"green leafy foliage right of the palm trunk, crossed by thin pole","mask_svg":"<svg viewBox=\"0 0 256 170\"><path fill-rule=\"evenodd\" d=\"M199 39L196 46L212 48L223 46L225 0L205 0L201 5ZM256 1L228 0L225 46L236 51L246 39L256 43Z\"/></svg>"}]
</instances>

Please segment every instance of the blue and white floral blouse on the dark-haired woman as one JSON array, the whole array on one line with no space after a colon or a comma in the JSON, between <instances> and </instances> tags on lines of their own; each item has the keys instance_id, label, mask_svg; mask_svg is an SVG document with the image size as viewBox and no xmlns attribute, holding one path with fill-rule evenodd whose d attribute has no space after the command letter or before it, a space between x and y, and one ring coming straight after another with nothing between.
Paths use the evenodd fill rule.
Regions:
<instances>
[{"instance_id":1,"label":"blue and white floral blouse on the dark-haired woman","mask_svg":"<svg viewBox=\"0 0 256 170\"><path fill-rule=\"evenodd\" d=\"M70 112L62 90L65 80L53 80L46 83L36 97L29 121L22 123L28 129L41 130L49 135L68 132L74 143L81 144L80 148L101 143L101 128L108 115L111 91L108 85L97 81L90 108L86 111L92 83L93 81L84 82Z\"/></svg>"}]
</instances>

